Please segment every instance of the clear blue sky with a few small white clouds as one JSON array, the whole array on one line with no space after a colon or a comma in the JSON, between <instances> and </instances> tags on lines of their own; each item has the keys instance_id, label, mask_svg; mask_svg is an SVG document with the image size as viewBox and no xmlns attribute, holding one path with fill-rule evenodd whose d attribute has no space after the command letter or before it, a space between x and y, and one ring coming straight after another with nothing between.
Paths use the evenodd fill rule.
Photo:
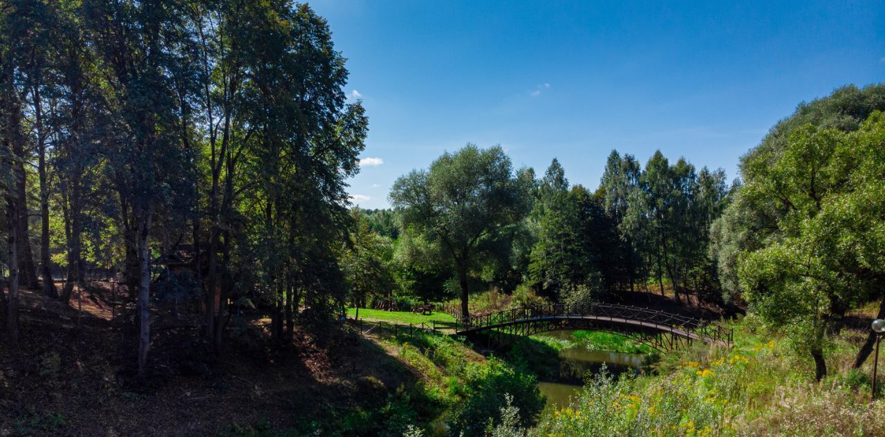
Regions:
<instances>
[{"instance_id":1,"label":"clear blue sky with a few small white clouds","mask_svg":"<svg viewBox=\"0 0 885 437\"><path fill-rule=\"evenodd\" d=\"M885 81L885 2L319 0L370 133L354 203L467 142L595 189L612 149L737 161L801 101Z\"/></svg>"}]
</instances>

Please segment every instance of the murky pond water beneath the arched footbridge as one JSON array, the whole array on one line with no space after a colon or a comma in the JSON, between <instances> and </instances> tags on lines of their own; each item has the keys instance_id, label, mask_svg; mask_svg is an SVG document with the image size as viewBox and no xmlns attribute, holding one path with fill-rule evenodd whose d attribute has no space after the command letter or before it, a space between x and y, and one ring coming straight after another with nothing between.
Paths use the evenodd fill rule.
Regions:
<instances>
[{"instance_id":1,"label":"murky pond water beneath the arched footbridge","mask_svg":"<svg viewBox=\"0 0 885 437\"><path fill-rule=\"evenodd\" d=\"M538 381L538 388L547 397L547 403L557 408L568 406L573 395L583 387L588 374L596 374L603 365L617 376L623 372L638 373L647 359L646 354L590 350L587 345L573 338L572 331L554 331L544 336L574 341L569 348L559 350L558 372Z\"/></svg>"}]
</instances>

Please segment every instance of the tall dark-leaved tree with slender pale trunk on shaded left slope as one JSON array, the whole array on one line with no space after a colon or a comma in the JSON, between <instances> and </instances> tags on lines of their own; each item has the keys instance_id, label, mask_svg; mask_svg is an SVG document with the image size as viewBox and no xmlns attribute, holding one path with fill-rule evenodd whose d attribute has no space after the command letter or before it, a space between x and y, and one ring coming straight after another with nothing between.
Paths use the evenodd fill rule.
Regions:
<instances>
[{"instance_id":1,"label":"tall dark-leaved tree with slender pale trunk on shaded left slope","mask_svg":"<svg viewBox=\"0 0 885 437\"><path fill-rule=\"evenodd\" d=\"M138 371L150 349L150 234L163 203L189 185L189 150L181 143L173 84L186 74L189 15L177 2L84 2L89 38L107 65L118 138L108 171L119 192L132 289L138 290Z\"/></svg>"}]
</instances>

